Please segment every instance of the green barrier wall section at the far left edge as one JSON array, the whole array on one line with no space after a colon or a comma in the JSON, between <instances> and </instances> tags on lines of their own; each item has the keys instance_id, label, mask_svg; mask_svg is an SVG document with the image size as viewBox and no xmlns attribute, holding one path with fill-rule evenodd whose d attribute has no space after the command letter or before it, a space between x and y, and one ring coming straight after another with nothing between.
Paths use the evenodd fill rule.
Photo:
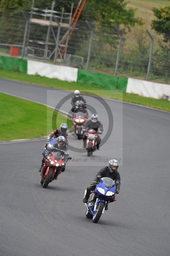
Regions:
<instances>
[{"instance_id":1,"label":"green barrier wall section at the far left edge","mask_svg":"<svg viewBox=\"0 0 170 256\"><path fill-rule=\"evenodd\" d=\"M15 70L21 73L27 72L27 61L20 58L0 56L0 68Z\"/></svg>"}]
</instances>

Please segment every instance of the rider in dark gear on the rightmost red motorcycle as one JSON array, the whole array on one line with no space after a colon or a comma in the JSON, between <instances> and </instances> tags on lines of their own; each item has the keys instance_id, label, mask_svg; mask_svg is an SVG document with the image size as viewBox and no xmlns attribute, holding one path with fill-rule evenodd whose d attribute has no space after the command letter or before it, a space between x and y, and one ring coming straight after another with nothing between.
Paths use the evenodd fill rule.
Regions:
<instances>
[{"instance_id":1,"label":"rider in dark gear on the rightmost red motorcycle","mask_svg":"<svg viewBox=\"0 0 170 256\"><path fill-rule=\"evenodd\" d=\"M94 129L96 132L98 132L98 130L100 129L100 131L103 131L103 125L100 121L98 121L98 115L97 114L92 114L92 119L88 120L85 124L84 124L84 130L89 130L89 129ZM86 138L87 135L84 134L82 136L83 139L83 148L86 147ZM96 148L99 150L100 149L100 143L101 143L101 137L98 135L97 137L97 145Z\"/></svg>"}]
</instances>

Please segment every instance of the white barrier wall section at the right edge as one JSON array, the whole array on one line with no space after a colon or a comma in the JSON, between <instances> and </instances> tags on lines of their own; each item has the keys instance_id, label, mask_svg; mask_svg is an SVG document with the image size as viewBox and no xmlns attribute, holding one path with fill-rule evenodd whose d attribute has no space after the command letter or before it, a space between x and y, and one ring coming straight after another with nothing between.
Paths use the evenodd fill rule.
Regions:
<instances>
[{"instance_id":1,"label":"white barrier wall section at the right edge","mask_svg":"<svg viewBox=\"0 0 170 256\"><path fill-rule=\"evenodd\" d=\"M165 94L169 96L170 99L170 85L157 84L131 78L128 79L126 92L154 99L160 99L163 94Z\"/></svg>"}]
</instances>

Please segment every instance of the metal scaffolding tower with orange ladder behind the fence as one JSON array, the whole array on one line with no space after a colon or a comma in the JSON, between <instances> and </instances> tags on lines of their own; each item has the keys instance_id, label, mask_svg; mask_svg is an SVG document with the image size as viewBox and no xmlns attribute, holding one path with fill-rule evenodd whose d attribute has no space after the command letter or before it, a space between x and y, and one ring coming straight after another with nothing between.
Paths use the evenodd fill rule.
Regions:
<instances>
[{"instance_id":1,"label":"metal scaffolding tower with orange ladder behind the fence","mask_svg":"<svg viewBox=\"0 0 170 256\"><path fill-rule=\"evenodd\" d=\"M70 12L61 12L54 10L55 0L52 2L51 9L38 9L34 7L32 0L32 8L29 13L29 18L26 18L26 26L23 40L22 57L28 55L36 55L35 52L41 52L39 58L49 60L53 57L54 63L56 61L64 61L66 58L66 51L68 42L71 38L72 32L75 29L78 18L81 15L82 9L86 0L80 0L78 6L73 11L73 3L70 7ZM34 25L36 26L34 28ZM40 31L46 27L46 38L40 35ZM30 34L34 31L33 38ZM30 52L32 54L30 54Z\"/></svg>"}]
</instances>

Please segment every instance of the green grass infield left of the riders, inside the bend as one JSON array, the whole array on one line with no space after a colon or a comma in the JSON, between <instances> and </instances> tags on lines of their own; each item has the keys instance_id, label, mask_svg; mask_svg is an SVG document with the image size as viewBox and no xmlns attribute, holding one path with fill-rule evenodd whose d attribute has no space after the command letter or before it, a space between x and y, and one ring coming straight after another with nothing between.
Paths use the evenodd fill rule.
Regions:
<instances>
[{"instance_id":1,"label":"green grass infield left of the riders, inside the bend","mask_svg":"<svg viewBox=\"0 0 170 256\"><path fill-rule=\"evenodd\" d=\"M54 111L44 105L0 93L0 110L0 141L43 137L53 130ZM56 127L63 122L71 127L71 120L56 114Z\"/></svg>"}]
</instances>

